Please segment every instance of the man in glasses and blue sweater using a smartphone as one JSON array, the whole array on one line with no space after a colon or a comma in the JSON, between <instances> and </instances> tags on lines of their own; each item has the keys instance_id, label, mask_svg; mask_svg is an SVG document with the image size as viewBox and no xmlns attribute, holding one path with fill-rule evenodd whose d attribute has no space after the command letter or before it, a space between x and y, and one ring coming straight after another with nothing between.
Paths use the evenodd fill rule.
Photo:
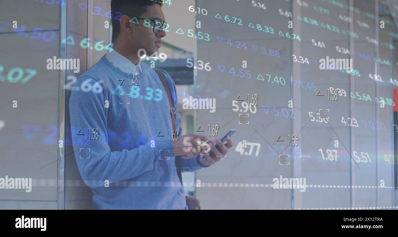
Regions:
<instances>
[{"instance_id":1,"label":"man in glasses and blue sweater using a smartphone","mask_svg":"<svg viewBox=\"0 0 398 237\"><path fill-rule=\"evenodd\" d=\"M154 69L140 63L139 51L158 52L166 36L161 6L161 0L111 0L113 13L122 14L112 18L113 49L72 88L71 127L95 131L90 139L72 134L72 143L98 209L188 209L181 171L208 167L232 147L229 137L226 145L216 141L219 151L205 136L181 135L176 85L161 70L164 86ZM200 155L199 141L217 157Z\"/></svg>"}]
</instances>

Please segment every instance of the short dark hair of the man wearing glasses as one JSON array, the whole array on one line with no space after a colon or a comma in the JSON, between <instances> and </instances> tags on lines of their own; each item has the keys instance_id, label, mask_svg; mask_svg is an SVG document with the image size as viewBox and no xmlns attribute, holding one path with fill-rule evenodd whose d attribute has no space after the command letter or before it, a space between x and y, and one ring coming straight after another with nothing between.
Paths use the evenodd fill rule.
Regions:
<instances>
[{"instance_id":1,"label":"short dark hair of the man wearing glasses","mask_svg":"<svg viewBox=\"0 0 398 237\"><path fill-rule=\"evenodd\" d=\"M154 4L162 6L162 3L151 0L111 0L111 10L113 14L121 12L122 15L141 17L146 12L146 8ZM120 33L119 20L114 18L112 18L112 42L115 41Z\"/></svg>"}]
</instances>

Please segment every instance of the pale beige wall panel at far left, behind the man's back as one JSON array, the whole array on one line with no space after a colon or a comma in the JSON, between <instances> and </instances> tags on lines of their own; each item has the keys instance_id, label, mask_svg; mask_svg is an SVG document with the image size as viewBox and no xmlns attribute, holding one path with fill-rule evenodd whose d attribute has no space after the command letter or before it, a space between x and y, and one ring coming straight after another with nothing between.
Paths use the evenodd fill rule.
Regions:
<instances>
[{"instance_id":1,"label":"pale beige wall panel at far left, behind the man's back","mask_svg":"<svg viewBox=\"0 0 398 237\"><path fill-rule=\"evenodd\" d=\"M31 192L2 189L0 209L57 208L58 167L52 162L58 158L59 72L47 70L46 60L59 55L59 19L58 4L0 1L0 65L5 77L0 79L0 120L5 122L0 132L0 176L32 178L34 185ZM17 29L25 25L29 35L14 32L13 21L17 21ZM4 27L4 22L11 25ZM54 31L55 38L44 41L41 32L40 39L32 39L37 36L32 32L36 27ZM16 67L22 68L24 75L12 83L7 75ZM37 74L21 84L28 75L25 69L36 70ZM17 108L12 106L14 100Z\"/></svg>"}]
</instances>

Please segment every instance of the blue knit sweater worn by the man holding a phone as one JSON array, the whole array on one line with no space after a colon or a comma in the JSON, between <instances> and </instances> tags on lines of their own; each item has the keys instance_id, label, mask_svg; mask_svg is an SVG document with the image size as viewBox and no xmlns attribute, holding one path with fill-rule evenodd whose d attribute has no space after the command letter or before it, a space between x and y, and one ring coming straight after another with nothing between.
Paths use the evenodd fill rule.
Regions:
<instances>
[{"instance_id":1,"label":"blue knit sweater worn by the man holding a phone","mask_svg":"<svg viewBox=\"0 0 398 237\"><path fill-rule=\"evenodd\" d=\"M176 85L162 72L177 108ZM133 79L103 56L74 83L69 111L72 131L84 134L72 132L80 175L98 209L187 209L169 140L173 126L166 91L146 64L138 86ZM179 135L180 124L176 111ZM157 136L160 130L164 136ZM197 158L181 159L182 171L205 167Z\"/></svg>"}]
</instances>

